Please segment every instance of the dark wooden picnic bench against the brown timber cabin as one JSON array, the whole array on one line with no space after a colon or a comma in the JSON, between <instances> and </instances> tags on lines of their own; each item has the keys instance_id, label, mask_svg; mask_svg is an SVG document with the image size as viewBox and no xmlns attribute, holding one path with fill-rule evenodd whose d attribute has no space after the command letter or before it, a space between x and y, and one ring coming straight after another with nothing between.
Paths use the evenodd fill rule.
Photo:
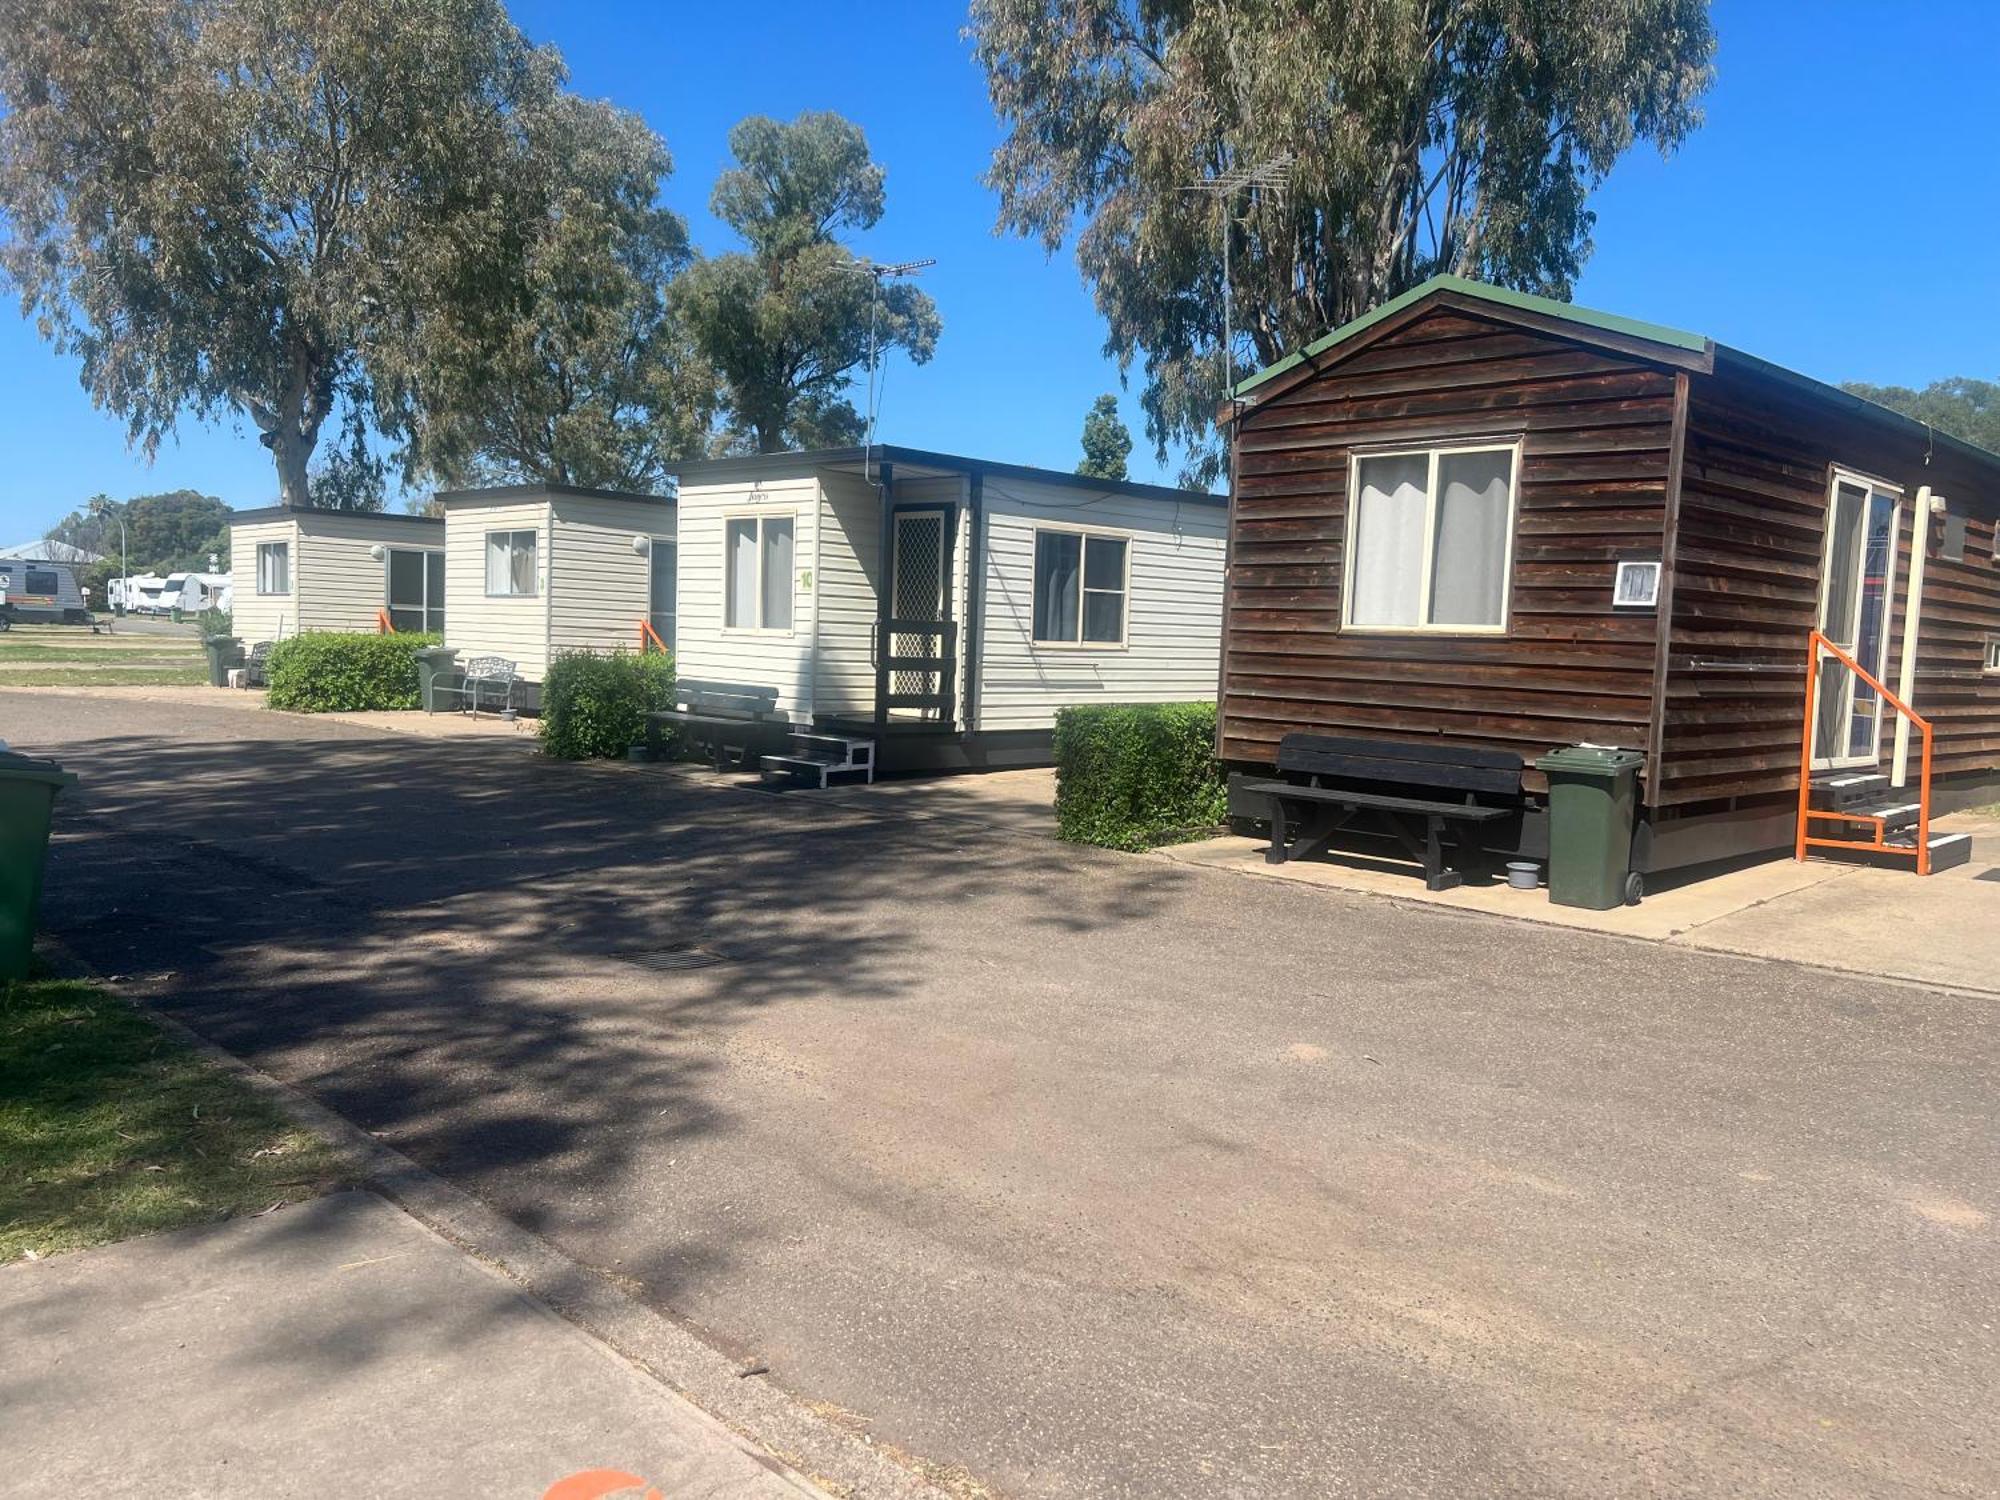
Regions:
<instances>
[{"instance_id":1,"label":"dark wooden picnic bench against the brown timber cabin","mask_svg":"<svg viewBox=\"0 0 2000 1500\"><path fill-rule=\"evenodd\" d=\"M1424 866L1424 886L1450 890L1464 872L1444 864L1446 828L1460 864L1468 854L1478 858L1480 832L1520 812L1520 756L1508 750L1286 734L1278 742L1280 778L1250 780L1242 790L1270 798L1270 864L1318 854L1360 820Z\"/></svg>"}]
</instances>

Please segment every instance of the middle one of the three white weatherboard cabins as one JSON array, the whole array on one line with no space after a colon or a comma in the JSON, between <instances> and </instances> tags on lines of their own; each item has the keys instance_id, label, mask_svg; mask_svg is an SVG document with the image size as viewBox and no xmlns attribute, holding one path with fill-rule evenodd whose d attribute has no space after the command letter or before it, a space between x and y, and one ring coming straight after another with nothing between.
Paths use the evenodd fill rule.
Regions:
<instances>
[{"instance_id":1,"label":"middle one of the three white weatherboard cabins","mask_svg":"<svg viewBox=\"0 0 2000 1500\"><path fill-rule=\"evenodd\" d=\"M504 656L540 682L560 650L674 646L674 502L566 484L446 490L458 662Z\"/></svg>"}]
</instances>

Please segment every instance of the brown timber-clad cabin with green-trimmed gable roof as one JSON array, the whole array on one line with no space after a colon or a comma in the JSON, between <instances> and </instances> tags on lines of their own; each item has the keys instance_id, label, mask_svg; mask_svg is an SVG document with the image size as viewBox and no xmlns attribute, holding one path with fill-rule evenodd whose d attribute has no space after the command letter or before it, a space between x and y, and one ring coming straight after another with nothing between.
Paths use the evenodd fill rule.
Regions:
<instances>
[{"instance_id":1,"label":"brown timber-clad cabin with green-trimmed gable roof","mask_svg":"<svg viewBox=\"0 0 2000 1500\"><path fill-rule=\"evenodd\" d=\"M1926 834L2000 794L1996 454L1700 334L1454 276L1258 372L1222 420L1232 770L1268 774L1294 730L1516 752L1538 854L1534 758L1624 746L1640 870L1794 846L1802 778L1816 838L1912 854L1914 814L1870 826L1822 792L1922 798ZM1930 724L1928 786L1922 726L1854 666Z\"/></svg>"}]
</instances>

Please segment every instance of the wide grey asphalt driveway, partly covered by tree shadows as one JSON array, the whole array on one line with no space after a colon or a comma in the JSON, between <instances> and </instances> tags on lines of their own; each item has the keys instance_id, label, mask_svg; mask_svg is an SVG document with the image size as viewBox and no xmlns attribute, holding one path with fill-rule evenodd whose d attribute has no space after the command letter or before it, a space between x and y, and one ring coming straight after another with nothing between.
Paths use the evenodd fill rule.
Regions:
<instances>
[{"instance_id":1,"label":"wide grey asphalt driveway, partly covered by tree shadows","mask_svg":"<svg viewBox=\"0 0 2000 1500\"><path fill-rule=\"evenodd\" d=\"M0 738L86 778L70 946L1000 1494L2000 1488L1992 1002L510 742Z\"/></svg>"}]
</instances>

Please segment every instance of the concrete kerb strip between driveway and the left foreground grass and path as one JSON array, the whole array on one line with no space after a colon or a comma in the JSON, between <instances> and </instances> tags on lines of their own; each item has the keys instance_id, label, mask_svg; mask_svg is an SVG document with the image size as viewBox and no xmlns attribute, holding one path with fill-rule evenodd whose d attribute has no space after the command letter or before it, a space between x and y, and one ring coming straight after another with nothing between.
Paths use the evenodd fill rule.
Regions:
<instances>
[{"instance_id":1,"label":"concrete kerb strip between driveway and the left foreground grass and path","mask_svg":"<svg viewBox=\"0 0 2000 1500\"><path fill-rule=\"evenodd\" d=\"M36 944L58 978L96 984L130 1004L206 1062L276 1104L294 1124L324 1136L354 1168L354 1186L388 1200L432 1234L506 1276L558 1318L574 1324L672 1394L770 1456L772 1466L834 1496L894 1500L978 1500L992 1492L962 1470L934 1466L870 1438L860 1424L834 1422L768 1376L744 1368L686 1326L646 1306L608 1272L572 1260L482 1200L292 1088L184 1022L92 970L46 934ZM934 1480L942 1480L934 1482Z\"/></svg>"}]
</instances>

